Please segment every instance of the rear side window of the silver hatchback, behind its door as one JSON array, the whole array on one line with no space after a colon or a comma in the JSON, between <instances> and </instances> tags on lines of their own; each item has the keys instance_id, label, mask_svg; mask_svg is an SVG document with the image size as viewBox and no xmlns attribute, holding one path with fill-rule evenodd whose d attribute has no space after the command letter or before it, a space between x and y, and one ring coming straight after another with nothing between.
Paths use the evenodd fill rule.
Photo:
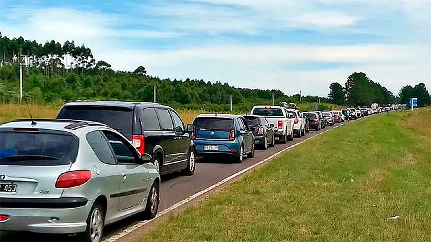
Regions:
<instances>
[{"instance_id":1,"label":"rear side window of the silver hatchback, behind its door","mask_svg":"<svg viewBox=\"0 0 431 242\"><path fill-rule=\"evenodd\" d=\"M115 164L112 150L109 147L106 138L100 131L93 131L86 135L88 144L90 144L97 158L106 164Z\"/></svg>"}]
</instances>

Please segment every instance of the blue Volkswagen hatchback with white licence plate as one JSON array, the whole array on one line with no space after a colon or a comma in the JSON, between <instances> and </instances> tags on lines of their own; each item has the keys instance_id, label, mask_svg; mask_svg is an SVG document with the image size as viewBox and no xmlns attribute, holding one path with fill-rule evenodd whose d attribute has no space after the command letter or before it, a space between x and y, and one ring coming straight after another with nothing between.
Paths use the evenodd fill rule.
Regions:
<instances>
[{"instance_id":1,"label":"blue Volkswagen hatchback with white licence plate","mask_svg":"<svg viewBox=\"0 0 431 242\"><path fill-rule=\"evenodd\" d=\"M254 156L253 132L243 116L200 114L195 117L193 135L197 156L228 156L242 162Z\"/></svg>"}]
</instances>

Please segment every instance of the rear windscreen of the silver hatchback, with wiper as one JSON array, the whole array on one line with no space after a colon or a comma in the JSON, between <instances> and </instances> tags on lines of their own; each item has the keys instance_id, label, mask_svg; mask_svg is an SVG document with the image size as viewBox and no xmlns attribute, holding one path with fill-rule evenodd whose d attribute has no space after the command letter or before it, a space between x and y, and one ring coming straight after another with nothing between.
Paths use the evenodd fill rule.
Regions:
<instances>
[{"instance_id":1,"label":"rear windscreen of the silver hatchback, with wiper","mask_svg":"<svg viewBox=\"0 0 431 242\"><path fill-rule=\"evenodd\" d=\"M67 165L75 162L78 146L68 132L0 129L0 165Z\"/></svg>"}]
</instances>

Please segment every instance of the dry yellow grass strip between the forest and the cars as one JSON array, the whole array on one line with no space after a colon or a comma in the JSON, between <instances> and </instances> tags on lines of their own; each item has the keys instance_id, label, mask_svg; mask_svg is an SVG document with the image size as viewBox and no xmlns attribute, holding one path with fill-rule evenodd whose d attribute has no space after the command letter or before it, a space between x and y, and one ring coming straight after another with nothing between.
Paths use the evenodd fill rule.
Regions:
<instances>
[{"instance_id":1,"label":"dry yellow grass strip between the forest and the cars","mask_svg":"<svg viewBox=\"0 0 431 242\"><path fill-rule=\"evenodd\" d=\"M304 103L298 104L298 108L300 110L311 109L313 104ZM31 114L34 118L54 118L58 111L60 110L61 104L53 104L53 105L37 105L37 104L29 104L28 105ZM320 107L320 106L319 106ZM333 104L321 104L321 109L340 109L341 106L333 105ZM196 115L200 113L207 113L205 110L178 110L178 114L180 114L181 118L184 120L185 124L189 124L193 122L193 119ZM246 112L244 112L246 113ZM28 110L26 105L19 104L0 104L0 123L6 122L12 119L20 119L20 118L29 118Z\"/></svg>"}]
</instances>

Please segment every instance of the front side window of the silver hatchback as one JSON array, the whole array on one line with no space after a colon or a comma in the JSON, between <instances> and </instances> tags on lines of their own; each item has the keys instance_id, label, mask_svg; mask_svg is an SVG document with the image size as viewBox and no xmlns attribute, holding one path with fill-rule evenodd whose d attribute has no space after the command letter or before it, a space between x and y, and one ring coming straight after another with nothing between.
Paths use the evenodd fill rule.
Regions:
<instances>
[{"instance_id":1,"label":"front side window of the silver hatchback","mask_svg":"<svg viewBox=\"0 0 431 242\"><path fill-rule=\"evenodd\" d=\"M104 130L103 134L105 134L106 138L108 139L109 144L111 145L115 157L119 163L136 163L136 152L129 141L123 139L114 132Z\"/></svg>"}]
</instances>

